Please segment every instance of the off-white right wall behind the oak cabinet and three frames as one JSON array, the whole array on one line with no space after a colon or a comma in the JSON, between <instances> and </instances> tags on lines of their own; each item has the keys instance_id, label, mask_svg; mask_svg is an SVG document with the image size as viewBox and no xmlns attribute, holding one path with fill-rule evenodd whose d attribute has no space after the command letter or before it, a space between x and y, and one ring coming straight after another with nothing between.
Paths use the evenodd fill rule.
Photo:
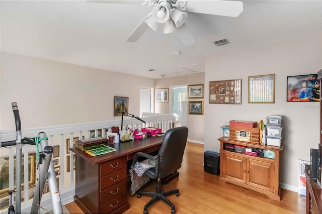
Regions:
<instances>
[{"instance_id":1,"label":"off-white right wall behind the oak cabinet and three frames","mask_svg":"<svg viewBox=\"0 0 322 214\"><path fill-rule=\"evenodd\" d=\"M309 39L308 39L309 38ZM239 49L206 58L205 150L218 151L220 127L230 120L257 121L283 116L284 149L280 182L298 186L298 159L309 160L319 143L319 102L286 102L287 76L316 73L322 67L321 33ZM248 76L275 73L275 103L248 103ZM209 104L209 81L242 79L241 104ZM285 187L285 186L284 186ZM294 189L296 190L296 189Z\"/></svg>"}]
</instances>

